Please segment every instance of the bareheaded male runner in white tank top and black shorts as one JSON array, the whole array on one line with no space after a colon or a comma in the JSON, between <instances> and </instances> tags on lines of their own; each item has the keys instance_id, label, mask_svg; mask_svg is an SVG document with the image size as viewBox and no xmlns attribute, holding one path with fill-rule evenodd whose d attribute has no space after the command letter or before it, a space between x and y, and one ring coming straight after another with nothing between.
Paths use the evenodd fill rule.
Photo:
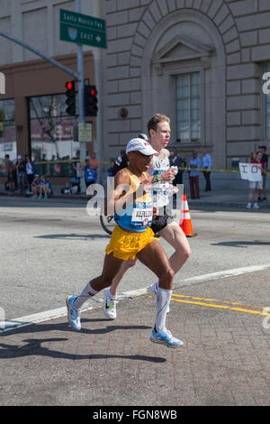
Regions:
<instances>
[{"instance_id":1,"label":"bareheaded male runner in white tank top and black shorts","mask_svg":"<svg viewBox=\"0 0 270 424\"><path fill-rule=\"evenodd\" d=\"M155 234L158 233L168 244L175 248L175 253L169 258L169 263L174 270L178 272L191 254L190 246L184 235L182 228L175 223L171 217L171 210L168 208L168 181L174 180L175 174L170 169L169 152L166 146L170 139L170 119L166 115L153 115L148 121L148 134L150 144L153 149L158 152L157 156L153 156L152 166L148 170L151 176L149 182L152 189L157 191L157 207L158 215L154 217L151 228ZM162 181L162 182L161 182ZM165 191L164 191L164 186ZM115 319L117 288L120 284L124 273L136 263L135 261L126 261L122 264L120 271L112 281L110 288L104 290L103 312L109 319ZM158 281L148 287L148 293L157 295ZM167 309L168 311L168 309Z\"/></svg>"}]
</instances>

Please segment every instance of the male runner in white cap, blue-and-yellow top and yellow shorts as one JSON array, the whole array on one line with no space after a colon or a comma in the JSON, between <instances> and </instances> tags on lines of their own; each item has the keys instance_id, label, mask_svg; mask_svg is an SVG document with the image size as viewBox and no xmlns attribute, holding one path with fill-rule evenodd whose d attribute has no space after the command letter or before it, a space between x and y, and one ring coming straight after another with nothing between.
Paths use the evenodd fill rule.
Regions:
<instances>
[{"instance_id":1,"label":"male runner in white cap, blue-and-yellow top and yellow shorts","mask_svg":"<svg viewBox=\"0 0 270 424\"><path fill-rule=\"evenodd\" d=\"M159 280L157 318L150 340L168 347L183 346L183 342L173 337L165 325L166 308L171 299L175 272L149 227L153 216L153 202L145 181L149 179L147 171L153 155L157 152L148 142L139 138L130 140L126 152L129 153L130 165L117 173L113 196L108 200L109 206L113 206L115 210L117 225L106 247L103 272L89 281L79 296L67 298L68 321L72 327L80 330L80 310L85 300L110 287L113 278L121 269L121 264L137 257L156 273Z\"/></svg>"}]
</instances>

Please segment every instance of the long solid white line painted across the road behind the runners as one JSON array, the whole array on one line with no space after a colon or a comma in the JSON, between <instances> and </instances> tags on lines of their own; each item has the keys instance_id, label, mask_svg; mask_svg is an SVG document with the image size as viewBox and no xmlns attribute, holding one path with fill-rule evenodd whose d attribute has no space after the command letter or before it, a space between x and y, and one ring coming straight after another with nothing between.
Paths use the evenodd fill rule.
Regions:
<instances>
[{"instance_id":1,"label":"long solid white line painted across the road behind the runners","mask_svg":"<svg viewBox=\"0 0 270 424\"><path fill-rule=\"evenodd\" d=\"M181 281L180 284L175 284L175 288L181 287L183 285L190 285L193 283L198 282L205 282L205 281L213 281L220 278L228 278L228 277L234 277L237 275L245 274L247 272L257 272L257 271L264 271L267 268L270 268L270 263L266 263L263 265L252 265L252 266L246 266L243 268L234 268L232 270L226 270L226 271L218 271L218 272L211 272L208 274L202 274L198 275L196 277L187 278L185 280ZM128 298L132 298L134 296L139 296L141 294L146 293L147 288L144 289L138 289L138 290L129 290L125 291L124 293L121 293L119 296L119 300L124 300ZM96 300L96 307L90 307L85 308L83 310L91 310L94 308L100 308L102 303L102 300ZM28 315L26 317L21 318L14 318L14 319L6 319L4 321L0 321L0 333L4 331L11 331L15 328L21 328L26 326L31 326L31 324L37 324L39 322L48 321L49 319L55 319L60 317L67 316L67 308L58 308L58 309L51 309L46 310L44 312L40 312L33 315Z\"/></svg>"}]
</instances>

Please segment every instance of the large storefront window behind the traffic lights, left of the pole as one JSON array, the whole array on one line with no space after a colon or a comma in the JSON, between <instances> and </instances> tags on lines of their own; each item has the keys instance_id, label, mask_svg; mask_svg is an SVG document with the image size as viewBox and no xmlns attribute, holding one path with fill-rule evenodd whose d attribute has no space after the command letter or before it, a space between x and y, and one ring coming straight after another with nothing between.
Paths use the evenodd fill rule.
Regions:
<instances>
[{"instance_id":1,"label":"large storefront window behind the traffic lights, left of the pole","mask_svg":"<svg viewBox=\"0 0 270 424\"><path fill-rule=\"evenodd\" d=\"M31 157L33 161L65 161L75 158L79 143L74 141L76 116L66 113L64 94L29 98ZM70 163L43 163L40 173L53 176L72 175Z\"/></svg>"}]
</instances>

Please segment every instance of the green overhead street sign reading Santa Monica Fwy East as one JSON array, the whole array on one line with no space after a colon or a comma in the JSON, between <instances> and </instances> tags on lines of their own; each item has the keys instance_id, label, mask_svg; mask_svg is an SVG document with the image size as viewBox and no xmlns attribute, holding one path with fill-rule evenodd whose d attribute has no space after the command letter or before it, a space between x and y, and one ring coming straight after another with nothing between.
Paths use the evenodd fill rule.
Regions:
<instances>
[{"instance_id":1,"label":"green overhead street sign reading Santa Monica Fwy East","mask_svg":"<svg viewBox=\"0 0 270 424\"><path fill-rule=\"evenodd\" d=\"M60 9L60 40L107 49L106 21Z\"/></svg>"}]
</instances>

